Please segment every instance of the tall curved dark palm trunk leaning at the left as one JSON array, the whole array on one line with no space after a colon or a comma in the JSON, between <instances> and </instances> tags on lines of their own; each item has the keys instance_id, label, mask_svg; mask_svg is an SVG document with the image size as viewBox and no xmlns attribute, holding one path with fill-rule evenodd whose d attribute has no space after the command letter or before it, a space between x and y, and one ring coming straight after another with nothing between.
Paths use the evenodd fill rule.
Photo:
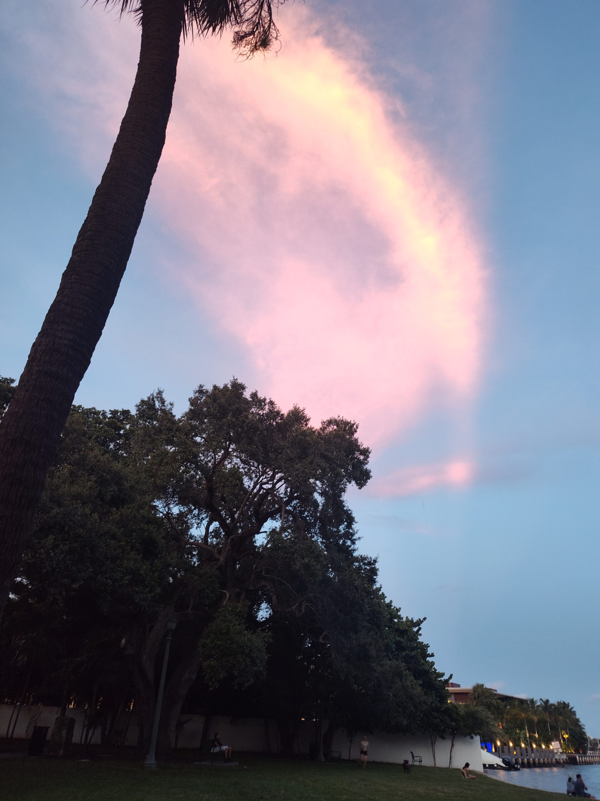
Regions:
<instances>
[{"instance_id":1,"label":"tall curved dark palm trunk leaning at the left","mask_svg":"<svg viewBox=\"0 0 600 801\"><path fill-rule=\"evenodd\" d=\"M142 0L138 71L110 160L0 424L0 621L78 385L106 324L165 143L182 0Z\"/></svg>"}]
</instances>

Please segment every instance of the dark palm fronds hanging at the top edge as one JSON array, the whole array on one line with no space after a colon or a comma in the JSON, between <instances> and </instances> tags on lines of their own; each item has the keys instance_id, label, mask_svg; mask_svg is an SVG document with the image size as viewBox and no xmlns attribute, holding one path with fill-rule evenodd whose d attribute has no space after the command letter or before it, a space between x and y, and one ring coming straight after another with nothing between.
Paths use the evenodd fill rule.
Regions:
<instances>
[{"instance_id":1,"label":"dark palm fronds hanging at the top edge","mask_svg":"<svg viewBox=\"0 0 600 801\"><path fill-rule=\"evenodd\" d=\"M93 0L119 14L133 14L141 22L144 0ZM233 29L232 44L246 58L269 50L279 38L273 10L285 0L171 0L182 6L182 34L221 36Z\"/></svg>"}]
</instances>

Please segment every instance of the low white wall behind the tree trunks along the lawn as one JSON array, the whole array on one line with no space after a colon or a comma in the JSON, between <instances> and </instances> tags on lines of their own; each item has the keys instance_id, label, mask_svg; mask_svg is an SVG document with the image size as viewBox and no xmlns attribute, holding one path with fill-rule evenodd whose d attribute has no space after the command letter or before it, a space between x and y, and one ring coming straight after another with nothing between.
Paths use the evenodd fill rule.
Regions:
<instances>
[{"instance_id":1,"label":"low white wall behind the tree trunks along the lawn","mask_svg":"<svg viewBox=\"0 0 600 801\"><path fill-rule=\"evenodd\" d=\"M0 704L0 737L6 736L6 727L13 710L12 706ZM23 706L18 716L17 726L14 730L15 739L25 739L28 724L34 718L36 726L52 727L54 718L58 714L56 706ZM75 730L73 742L80 743L83 739L85 730L85 710L67 710L70 717L75 718ZM14 720L14 718L13 718ZM180 718L182 725L179 731L179 748L198 748L202 739L202 728L204 717L201 714L182 714ZM115 731L123 731L127 727L125 745L134 746L138 740L138 727L135 721L135 714L130 715L122 712L115 723ZM12 723L11 723L12 728ZM255 754L278 753L278 732L277 725L273 720L265 723L264 718L230 718L225 716L215 716L210 718L209 736L218 731L221 735L222 743L231 746L234 751L246 751ZM358 759L359 743L362 734L354 738L353 742L348 739L343 731L338 731L334 736L332 746L333 751L341 751L342 759L348 759L350 747L350 759ZM374 762L402 763L404 759L412 761L410 751L422 757L424 765L434 764L431 753L429 737L424 735L387 735L375 732L369 735L369 759ZM303 723L298 731L298 736L294 743L296 754L308 754L309 744L314 740L314 724L310 721ZM91 740L94 745L100 744L100 731L96 730L94 738ZM450 739L440 739L435 747L436 761L438 767L448 767L450 754ZM482 770L482 751L479 739L468 737L457 737L454 743L452 755L453 767L462 767L466 762L474 771Z\"/></svg>"}]
</instances>

